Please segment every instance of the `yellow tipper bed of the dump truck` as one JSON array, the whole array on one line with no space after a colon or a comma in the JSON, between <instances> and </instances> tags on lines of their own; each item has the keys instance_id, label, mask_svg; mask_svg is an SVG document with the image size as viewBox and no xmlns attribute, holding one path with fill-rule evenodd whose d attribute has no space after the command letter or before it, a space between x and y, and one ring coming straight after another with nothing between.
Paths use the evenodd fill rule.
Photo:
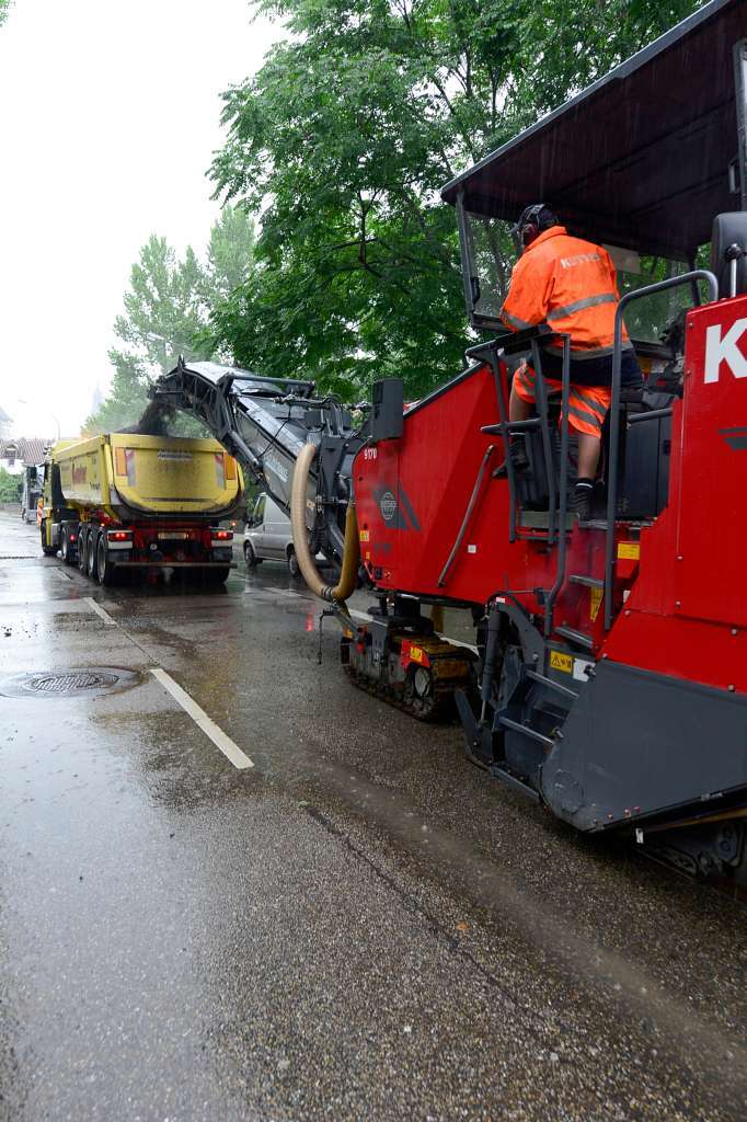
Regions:
<instances>
[{"instance_id":1,"label":"yellow tipper bed of the dump truck","mask_svg":"<svg viewBox=\"0 0 747 1122\"><path fill-rule=\"evenodd\" d=\"M218 441L107 433L52 450L65 503L118 518L228 516L243 493L236 460Z\"/></svg>"}]
</instances>

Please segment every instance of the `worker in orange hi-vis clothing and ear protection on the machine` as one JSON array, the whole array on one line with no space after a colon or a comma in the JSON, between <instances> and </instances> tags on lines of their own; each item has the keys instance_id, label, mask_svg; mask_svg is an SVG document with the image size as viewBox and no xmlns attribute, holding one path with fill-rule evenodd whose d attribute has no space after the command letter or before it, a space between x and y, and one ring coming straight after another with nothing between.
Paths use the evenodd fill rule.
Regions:
<instances>
[{"instance_id":1,"label":"worker in orange hi-vis clothing and ear protection on the machine","mask_svg":"<svg viewBox=\"0 0 747 1122\"><path fill-rule=\"evenodd\" d=\"M522 256L514 266L500 318L515 331L546 324L571 337L569 422L579 438L579 478L573 509L591 516L601 429L610 405L615 312L619 302L612 260L601 246L573 238L544 203L527 206L514 232ZM622 384L640 385L638 361L622 334ZM550 390L561 388L562 340L542 349L542 373ZM535 401L535 374L523 364L514 375L509 419L524 421ZM511 461L526 470L524 444L514 441ZM505 465L499 469L505 475Z\"/></svg>"}]
</instances>

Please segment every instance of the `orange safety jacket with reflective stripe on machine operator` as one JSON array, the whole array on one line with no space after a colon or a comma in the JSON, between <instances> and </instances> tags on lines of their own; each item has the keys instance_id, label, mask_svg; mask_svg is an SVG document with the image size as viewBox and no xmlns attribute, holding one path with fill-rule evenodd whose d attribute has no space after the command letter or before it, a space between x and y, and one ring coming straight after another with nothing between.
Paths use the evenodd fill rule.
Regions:
<instances>
[{"instance_id":1,"label":"orange safety jacket with reflective stripe on machine operator","mask_svg":"<svg viewBox=\"0 0 747 1122\"><path fill-rule=\"evenodd\" d=\"M564 226L551 226L535 238L511 273L500 312L515 331L545 323L571 337L574 361L612 353L615 312L619 302L612 259L601 246L572 238ZM630 347L622 328L622 339ZM545 350L562 355L560 340Z\"/></svg>"}]
</instances>

